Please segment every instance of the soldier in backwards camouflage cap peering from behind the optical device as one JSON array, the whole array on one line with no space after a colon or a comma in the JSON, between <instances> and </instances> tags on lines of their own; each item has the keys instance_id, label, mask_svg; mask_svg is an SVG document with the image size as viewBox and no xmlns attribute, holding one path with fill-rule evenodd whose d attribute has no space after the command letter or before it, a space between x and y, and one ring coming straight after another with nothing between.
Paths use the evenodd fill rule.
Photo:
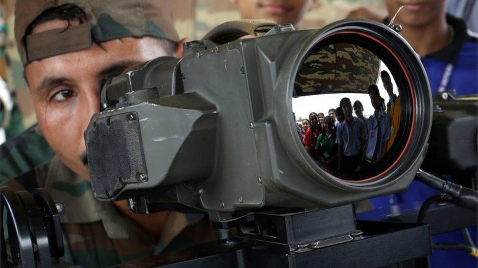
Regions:
<instances>
[{"instance_id":1,"label":"soldier in backwards camouflage cap peering from behind the optical device","mask_svg":"<svg viewBox=\"0 0 478 268\"><path fill-rule=\"evenodd\" d=\"M50 192L62 213L64 261L108 266L213 239L202 215L134 214L124 200L97 202L89 182L83 132L99 111L101 82L136 63L182 56L185 39L172 26L169 1L18 0L15 15L38 125L55 156L2 185ZM9 149L2 147L2 170L9 168L3 159L19 152Z\"/></svg>"}]
</instances>

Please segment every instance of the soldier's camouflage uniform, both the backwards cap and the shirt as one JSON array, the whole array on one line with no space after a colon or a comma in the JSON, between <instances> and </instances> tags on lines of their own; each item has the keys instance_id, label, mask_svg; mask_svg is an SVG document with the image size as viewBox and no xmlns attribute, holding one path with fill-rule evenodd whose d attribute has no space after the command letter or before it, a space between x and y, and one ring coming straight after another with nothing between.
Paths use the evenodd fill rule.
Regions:
<instances>
[{"instance_id":1,"label":"soldier's camouflage uniform, both the backwards cap and the shirt","mask_svg":"<svg viewBox=\"0 0 478 268\"><path fill-rule=\"evenodd\" d=\"M90 20L24 36L42 11L64 3L82 7ZM23 0L16 3L15 34L24 65L54 55L88 49L93 42L122 37L153 36L178 41L166 1L153 0ZM90 182L79 177L54 155L32 127L1 145L1 185L14 190L46 188L60 207L65 254L62 258L83 267L114 265L215 239L203 214L173 211L154 237L112 202L98 202Z\"/></svg>"}]
</instances>

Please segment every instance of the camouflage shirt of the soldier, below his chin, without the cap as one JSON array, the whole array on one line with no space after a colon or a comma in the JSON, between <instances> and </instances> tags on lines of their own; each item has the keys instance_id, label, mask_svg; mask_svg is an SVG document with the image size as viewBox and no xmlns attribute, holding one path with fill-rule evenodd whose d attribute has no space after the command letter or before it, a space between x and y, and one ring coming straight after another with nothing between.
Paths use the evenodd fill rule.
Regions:
<instances>
[{"instance_id":1,"label":"camouflage shirt of the soldier, below his chin, without the cap","mask_svg":"<svg viewBox=\"0 0 478 268\"><path fill-rule=\"evenodd\" d=\"M102 267L216 239L202 214L168 212L163 233L155 238L112 202L93 197L88 181L54 156L15 179L2 181L15 191L43 187L60 209L65 254L62 260L82 267Z\"/></svg>"}]
</instances>

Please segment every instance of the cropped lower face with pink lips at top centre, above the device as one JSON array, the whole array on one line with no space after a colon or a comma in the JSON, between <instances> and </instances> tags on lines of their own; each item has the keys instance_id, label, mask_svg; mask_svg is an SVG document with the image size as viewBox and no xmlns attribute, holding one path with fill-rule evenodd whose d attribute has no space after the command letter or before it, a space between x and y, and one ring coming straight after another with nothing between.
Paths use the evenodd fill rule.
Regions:
<instances>
[{"instance_id":1,"label":"cropped lower face with pink lips at top centre, above the device","mask_svg":"<svg viewBox=\"0 0 478 268\"><path fill-rule=\"evenodd\" d=\"M242 19L263 19L296 24L315 0L230 0Z\"/></svg>"}]
</instances>

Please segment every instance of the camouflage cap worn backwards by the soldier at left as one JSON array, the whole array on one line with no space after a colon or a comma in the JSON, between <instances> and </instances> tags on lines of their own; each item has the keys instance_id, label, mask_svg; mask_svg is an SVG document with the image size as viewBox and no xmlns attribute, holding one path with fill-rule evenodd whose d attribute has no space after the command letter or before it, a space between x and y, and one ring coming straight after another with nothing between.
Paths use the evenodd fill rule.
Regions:
<instances>
[{"instance_id":1,"label":"camouflage cap worn backwards by the soldier at left","mask_svg":"<svg viewBox=\"0 0 478 268\"><path fill-rule=\"evenodd\" d=\"M63 4L82 8L89 21L25 36L45 10ZM17 0L15 39L24 65L125 37L153 36L177 42L168 0Z\"/></svg>"}]
</instances>

